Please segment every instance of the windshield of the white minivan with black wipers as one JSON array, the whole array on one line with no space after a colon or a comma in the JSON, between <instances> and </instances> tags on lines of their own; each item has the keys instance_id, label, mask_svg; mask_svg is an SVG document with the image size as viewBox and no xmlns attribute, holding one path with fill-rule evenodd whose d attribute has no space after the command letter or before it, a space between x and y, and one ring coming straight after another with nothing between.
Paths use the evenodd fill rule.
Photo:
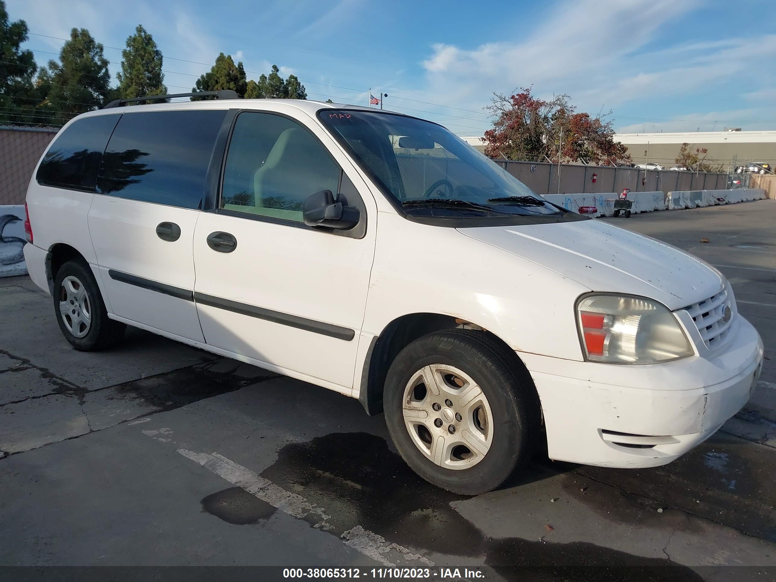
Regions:
<instances>
[{"instance_id":1,"label":"windshield of the white minivan with black wipers","mask_svg":"<svg viewBox=\"0 0 776 582\"><path fill-rule=\"evenodd\" d=\"M565 214L435 123L344 109L323 109L318 116L404 213L502 219Z\"/></svg>"}]
</instances>

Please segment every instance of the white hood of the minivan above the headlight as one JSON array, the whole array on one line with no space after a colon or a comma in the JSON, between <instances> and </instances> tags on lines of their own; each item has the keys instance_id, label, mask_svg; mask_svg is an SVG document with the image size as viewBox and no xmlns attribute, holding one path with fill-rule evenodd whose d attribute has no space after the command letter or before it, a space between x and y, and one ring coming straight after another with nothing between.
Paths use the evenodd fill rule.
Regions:
<instances>
[{"instance_id":1,"label":"white hood of the minivan above the headlight","mask_svg":"<svg viewBox=\"0 0 776 582\"><path fill-rule=\"evenodd\" d=\"M722 275L698 257L599 220L459 232L552 269L591 291L650 297L670 310L707 299L724 283Z\"/></svg>"}]
</instances>

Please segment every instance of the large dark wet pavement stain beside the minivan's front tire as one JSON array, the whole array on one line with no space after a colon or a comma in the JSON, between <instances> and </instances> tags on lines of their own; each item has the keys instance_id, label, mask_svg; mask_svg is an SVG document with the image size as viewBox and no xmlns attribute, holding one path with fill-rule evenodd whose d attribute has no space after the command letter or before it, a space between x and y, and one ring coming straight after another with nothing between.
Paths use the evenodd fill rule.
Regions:
<instances>
[{"instance_id":1,"label":"large dark wet pavement stain beside the minivan's front tire","mask_svg":"<svg viewBox=\"0 0 776 582\"><path fill-rule=\"evenodd\" d=\"M378 436L333 433L286 445L262 476L325 508L332 532L361 525L404 546L480 555L482 532L449 506L466 497L421 480Z\"/></svg>"}]
</instances>

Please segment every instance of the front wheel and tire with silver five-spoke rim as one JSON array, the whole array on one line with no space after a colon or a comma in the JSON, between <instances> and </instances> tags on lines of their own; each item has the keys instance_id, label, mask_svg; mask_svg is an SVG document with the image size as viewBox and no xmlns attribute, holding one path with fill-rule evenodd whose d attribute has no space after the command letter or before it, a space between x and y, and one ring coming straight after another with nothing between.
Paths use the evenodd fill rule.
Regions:
<instances>
[{"instance_id":1,"label":"front wheel and tire with silver five-spoke rim","mask_svg":"<svg viewBox=\"0 0 776 582\"><path fill-rule=\"evenodd\" d=\"M539 442L539 398L528 370L483 331L411 342L390 366L383 402L407 465L457 494L499 487Z\"/></svg>"}]
</instances>

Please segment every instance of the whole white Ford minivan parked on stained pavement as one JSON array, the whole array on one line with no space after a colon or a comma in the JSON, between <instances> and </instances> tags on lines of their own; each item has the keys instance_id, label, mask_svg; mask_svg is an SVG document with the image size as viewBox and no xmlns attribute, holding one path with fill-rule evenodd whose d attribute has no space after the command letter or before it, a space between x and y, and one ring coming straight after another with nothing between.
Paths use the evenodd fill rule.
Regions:
<instances>
[{"instance_id":1,"label":"whole white Ford minivan parked on stained pavement","mask_svg":"<svg viewBox=\"0 0 776 582\"><path fill-rule=\"evenodd\" d=\"M663 465L757 383L715 268L547 203L436 123L116 105L64 126L27 193L29 275L76 349L132 325L358 398L461 494L545 438L551 459Z\"/></svg>"}]
</instances>

